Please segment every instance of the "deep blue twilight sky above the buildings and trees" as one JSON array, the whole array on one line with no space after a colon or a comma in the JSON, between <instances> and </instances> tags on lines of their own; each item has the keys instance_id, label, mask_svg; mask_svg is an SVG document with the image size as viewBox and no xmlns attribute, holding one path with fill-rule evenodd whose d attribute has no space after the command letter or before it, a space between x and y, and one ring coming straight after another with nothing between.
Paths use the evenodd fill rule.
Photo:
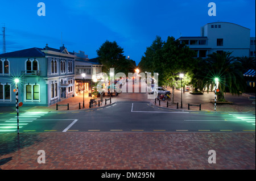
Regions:
<instances>
[{"instance_id":1,"label":"deep blue twilight sky above the buildings and trees","mask_svg":"<svg viewBox=\"0 0 256 181\"><path fill-rule=\"evenodd\" d=\"M38 16L39 2L46 16ZM208 3L217 16L208 15ZM255 36L254 0L0 0L0 26L6 27L6 52L38 47L82 50L89 58L106 41L117 41L125 56L137 62L156 36L200 36L200 27L230 22L250 28ZM2 53L2 31L0 32Z\"/></svg>"}]
</instances>

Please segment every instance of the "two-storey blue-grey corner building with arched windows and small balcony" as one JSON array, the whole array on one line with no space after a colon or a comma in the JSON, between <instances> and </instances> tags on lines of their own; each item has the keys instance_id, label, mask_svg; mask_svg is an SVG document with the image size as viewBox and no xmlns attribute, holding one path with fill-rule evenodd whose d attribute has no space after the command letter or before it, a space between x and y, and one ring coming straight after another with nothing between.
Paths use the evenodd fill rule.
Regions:
<instances>
[{"instance_id":1,"label":"two-storey blue-grey corner building with arched windows and small balcony","mask_svg":"<svg viewBox=\"0 0 256 181\"><path fill-rule=\"evenodd\" d=\"M75 57L64 45L0 54L0 106L15 105L15 77L24 106L49 106L73 96Z\"/></svg>"}]
</instances>

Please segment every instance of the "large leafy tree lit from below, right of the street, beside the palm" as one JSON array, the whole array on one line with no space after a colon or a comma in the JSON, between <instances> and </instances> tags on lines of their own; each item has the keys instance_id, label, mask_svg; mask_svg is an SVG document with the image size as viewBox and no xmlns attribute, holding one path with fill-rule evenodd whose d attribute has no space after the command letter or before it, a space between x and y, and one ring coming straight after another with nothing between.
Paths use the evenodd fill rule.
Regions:
<instances>
[{"instance_id":1,"label":"large leafy tree lit from below, right of the street, beside the palm","mask_svg":"<svg viewBox=\"0 0 256 181\"><path fill-rule=\"evenodd\" d=\"M154 65L159 73L159 85L172 87L172 103L180 73L192 72L197 62L195 52L174 37L168 37L163 47L156 50Z\"/></svg>"}]
</instances>

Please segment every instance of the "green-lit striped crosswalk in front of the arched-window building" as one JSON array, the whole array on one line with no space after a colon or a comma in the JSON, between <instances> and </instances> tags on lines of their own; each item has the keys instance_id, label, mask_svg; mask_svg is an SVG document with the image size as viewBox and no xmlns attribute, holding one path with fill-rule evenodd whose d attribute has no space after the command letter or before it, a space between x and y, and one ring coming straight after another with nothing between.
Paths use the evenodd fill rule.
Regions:
<instances>
[{"instance_id":1,"label":"green-lit striped crosswalk in front of the arched-window building","mask_svg":"<svg viewBox=\"0 0 256 181\"><path fill-rule=\"evenodd\" d=\"M46 115L48 112L24 112L19 115L19 129L32 123L41 116ZM0 132L15 132L17 131L17 116L11 119L0 119Z\"/></svg>"}]
</instances>

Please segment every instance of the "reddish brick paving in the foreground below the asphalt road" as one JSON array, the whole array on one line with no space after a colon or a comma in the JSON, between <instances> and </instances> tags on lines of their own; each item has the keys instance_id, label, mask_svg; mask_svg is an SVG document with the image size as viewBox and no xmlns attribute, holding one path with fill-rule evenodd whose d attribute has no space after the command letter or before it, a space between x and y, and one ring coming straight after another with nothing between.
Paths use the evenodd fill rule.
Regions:
<instances>
[{"instance_id":1,"label":"reddish brick paving in the foreground below the asphalt road","mask_svg":"<svg viewBox=\"0 0 256 181\"><path fill-rule=\"evenodd\" d=\"M46 153L39 164L38 150ZM216 163L209 164L209 150ZM255 169L253 133L0 134L1 169Z\"/></svg>"}]
</instances>

